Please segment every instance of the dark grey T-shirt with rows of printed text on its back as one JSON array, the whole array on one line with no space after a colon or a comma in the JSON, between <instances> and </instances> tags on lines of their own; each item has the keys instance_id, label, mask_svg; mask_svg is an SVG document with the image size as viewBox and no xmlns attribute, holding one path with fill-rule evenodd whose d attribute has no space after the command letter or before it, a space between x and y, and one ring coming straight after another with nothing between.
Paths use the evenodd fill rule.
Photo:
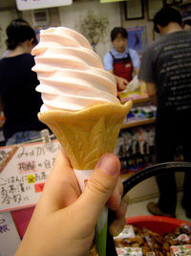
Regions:
<instances>
[{"instance_id":1,"label":"dark grey T-shirt with rows of printed text on its back","mask_svg":"<svg viewBox=\"0 0 191 256\"><path fill-rule=\"evenodd\" d=\"M158 111L191 109L191 32L162 35L150 44L138 78L157 84Z\"/></svg>"}]
</instances>

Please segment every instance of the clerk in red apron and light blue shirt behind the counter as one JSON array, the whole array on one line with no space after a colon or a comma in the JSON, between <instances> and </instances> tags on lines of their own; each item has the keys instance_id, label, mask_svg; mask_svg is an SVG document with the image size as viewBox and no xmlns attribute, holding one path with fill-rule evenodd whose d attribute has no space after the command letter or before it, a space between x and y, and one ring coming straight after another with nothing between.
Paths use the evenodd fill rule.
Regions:
<instances>
[{"instance_id":1,"label":"clerk in red apron and light blue shirt behind the counter","mask_svg":"<svg viewBox=\"0 0 191 256\"><path fill-rule=\"evenodd\" d=\"M128 32L124 28L114 28L111 32L113 48L103 59L105 70L114 74L117 90L124 90L132 81L133 74L138 75L140 61L138 53L127 46Z\"/></svg>"}]
</instances>

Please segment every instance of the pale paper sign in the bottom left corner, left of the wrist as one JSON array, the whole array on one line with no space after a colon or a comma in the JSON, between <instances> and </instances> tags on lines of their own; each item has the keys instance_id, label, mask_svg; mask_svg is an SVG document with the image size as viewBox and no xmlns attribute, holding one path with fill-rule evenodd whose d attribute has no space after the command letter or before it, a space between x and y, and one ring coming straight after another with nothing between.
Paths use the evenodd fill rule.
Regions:
<instances>
[{"instance_id":1,"label":"pale paper sign in the bottom left corner, left of the wrist","mask_svg":"<svg viewBox=\"0 0 191 256\"><path fill-rule=\"evenodd\" d=\"M0 256L14 255L19 244L20 238L11 213L0 213Z\"/></svg>"}]
</instances>

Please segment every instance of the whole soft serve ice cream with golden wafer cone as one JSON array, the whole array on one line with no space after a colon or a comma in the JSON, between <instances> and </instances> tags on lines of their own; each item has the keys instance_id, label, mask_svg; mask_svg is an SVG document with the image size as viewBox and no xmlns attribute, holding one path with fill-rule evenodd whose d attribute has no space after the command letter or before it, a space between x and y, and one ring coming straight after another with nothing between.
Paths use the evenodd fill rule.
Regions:
<instances>
[{"instance_id":1,"label":"whole soft serve ice cream with golden wafer cone","mask_svg":"<svg viewBox=\"0 0 191 256\"><path fill-rule=\"evenodd\" d=\"M38 117L68 154L83 190L99 157L114 151L132 103L120 104L113 75L103 69L88 40L73 30L41 31L32 55L40 81L36 90L44 103Z\"/></svg>"}]
</instances>

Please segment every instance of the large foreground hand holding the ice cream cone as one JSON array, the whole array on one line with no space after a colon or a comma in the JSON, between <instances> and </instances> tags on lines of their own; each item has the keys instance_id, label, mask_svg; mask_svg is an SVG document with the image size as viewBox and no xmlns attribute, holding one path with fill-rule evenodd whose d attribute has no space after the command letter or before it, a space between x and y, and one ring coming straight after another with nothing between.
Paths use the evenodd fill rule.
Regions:
<instances>
[{"instance_id":1,"label":"large foreground hand holding the ice cream cone","mask_svg":"<svg viewBox=\"0 0 191 256\"><path fill-rule=\"evenodd\" d=\"M125 224L128 203L127 198L121 201L119 171L117 156L104 154L80 195L71 163L59 151L15 256L87 255L93 243L96 221L106 202L116 211L117 218L110 232L117 235Z\"/></svg>"}]
</instances>

